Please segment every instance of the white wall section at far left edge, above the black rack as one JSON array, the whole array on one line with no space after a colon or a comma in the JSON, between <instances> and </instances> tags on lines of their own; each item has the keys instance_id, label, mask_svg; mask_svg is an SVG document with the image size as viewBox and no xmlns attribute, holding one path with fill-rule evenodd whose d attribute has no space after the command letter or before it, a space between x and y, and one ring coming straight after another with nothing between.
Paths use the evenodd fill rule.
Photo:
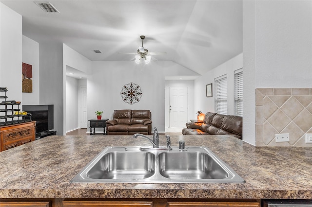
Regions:
<instances>
[{"instance_id":1,"label":"white wall section at far left edge, above the black rack","mask_svg":"<svg viewBox=\"0 0 312 207\"><path fill-rule=\"evenodd\" d=\"M22 17L0 3L0 87L8 100L22 101Z\"/></svg>"}]
</instances>

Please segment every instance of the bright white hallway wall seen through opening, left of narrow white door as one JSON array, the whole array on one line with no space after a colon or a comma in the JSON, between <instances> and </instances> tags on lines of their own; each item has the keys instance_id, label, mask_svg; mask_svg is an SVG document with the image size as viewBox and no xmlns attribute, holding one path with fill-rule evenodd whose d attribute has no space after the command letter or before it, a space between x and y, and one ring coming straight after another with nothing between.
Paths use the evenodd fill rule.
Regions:
<instances>
[{"instance_id":1,"label":"bright white hallway wall seen through opening, left of narrow white door","mask_svg":"<svg viewBox=\"0 0 312 207\"><path fill-rule=\"evenodd\" d=\"M78 129L78 79L66 76L66 132Z\"/></svg>"}]
</instances>

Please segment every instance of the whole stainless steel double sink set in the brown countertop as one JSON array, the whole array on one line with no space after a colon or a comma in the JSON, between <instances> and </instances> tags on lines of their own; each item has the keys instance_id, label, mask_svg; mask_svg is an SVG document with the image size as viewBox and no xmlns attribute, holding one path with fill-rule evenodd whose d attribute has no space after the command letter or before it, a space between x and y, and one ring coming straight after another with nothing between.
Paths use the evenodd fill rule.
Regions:
<instances>
[{"instance_id":1,"label":"whole stainless steel double sink set in the brown countertop","mask_svg":"<svg viewBox=\"0 0 312 207\"><path fill-rule=\"evenodd\" d=\"M71 182L82 183L244 183L244 179L206 147L180 151L140 151L107 147Z\"/></svg>"}]
</instances>

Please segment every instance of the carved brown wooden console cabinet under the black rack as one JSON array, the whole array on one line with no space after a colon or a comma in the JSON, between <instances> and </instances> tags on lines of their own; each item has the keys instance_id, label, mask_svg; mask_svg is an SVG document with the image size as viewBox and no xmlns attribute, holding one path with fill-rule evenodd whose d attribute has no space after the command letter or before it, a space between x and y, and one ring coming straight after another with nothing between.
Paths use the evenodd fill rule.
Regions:
<instances>
[{"instance_id":1,"label":"carved brown wooden console cabinet under the black rack","mask_svg":"<svg viewBox=\"0 0 312 207\"><path fill-rule=\"evenodd\" d=\"M36 121L7 125L0 127L0 151L8 150L13 147L35 140Z\"/></svg>"}]
</instances>

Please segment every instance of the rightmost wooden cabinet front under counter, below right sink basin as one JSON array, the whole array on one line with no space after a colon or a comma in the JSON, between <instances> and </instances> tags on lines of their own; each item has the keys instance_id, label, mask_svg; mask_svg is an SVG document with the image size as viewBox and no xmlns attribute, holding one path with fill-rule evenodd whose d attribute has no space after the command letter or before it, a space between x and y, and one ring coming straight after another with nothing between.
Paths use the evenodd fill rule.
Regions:
<instances>
[{"instance_id":1,"label":"rightmost wooden cabinet front under counter, below right sink basin","mask_svg":"<svg viewBox=\"0 0 312 207\"><path fill-rule=\"evenodd\" d=\"M168 207L260 207L258 202L168 202Z\"/></svg>"}]
</instances>

